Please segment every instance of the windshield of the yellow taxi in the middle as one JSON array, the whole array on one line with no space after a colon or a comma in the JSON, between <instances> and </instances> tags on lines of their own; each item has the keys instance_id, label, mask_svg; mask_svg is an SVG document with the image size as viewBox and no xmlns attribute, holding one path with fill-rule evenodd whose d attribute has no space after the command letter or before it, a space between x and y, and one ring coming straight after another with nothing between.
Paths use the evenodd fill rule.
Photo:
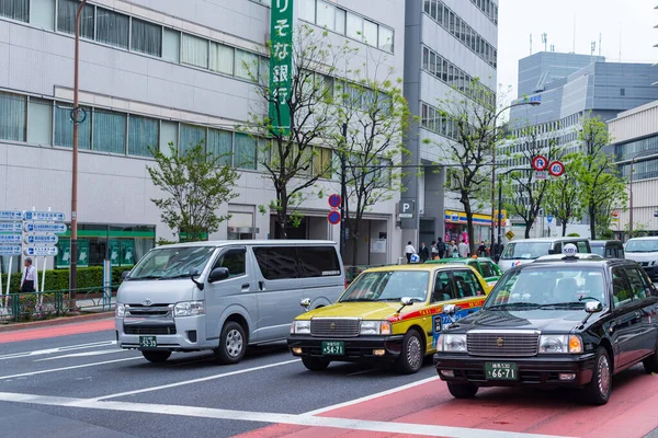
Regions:
<instances>
[{"instance_id":1,"label":"windshield of the yellow taxi in the middle","mask_svg":"<svg viewBox=\"0 0 658 438\"><path fill-rule=\"evenodd\" d=\"M422 270L385 270L361 274L340 297L349 301L399 301L409 297L424 302L430 273Z\"/></svg>"}]
</instances>

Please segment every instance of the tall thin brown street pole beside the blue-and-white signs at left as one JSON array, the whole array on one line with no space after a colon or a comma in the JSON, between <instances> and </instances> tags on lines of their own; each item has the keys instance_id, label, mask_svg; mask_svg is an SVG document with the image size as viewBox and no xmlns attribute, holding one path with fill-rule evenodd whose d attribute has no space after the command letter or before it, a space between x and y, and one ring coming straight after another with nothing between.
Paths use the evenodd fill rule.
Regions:
<instances>
[{"instance_id":1,"label":"tall thin brown street pole beside the blue-and-white signs at left","mask_svg":"<svg viewBox=\"0 0 658 438\"><path fill-rule=\"evenodd\" d=\"M70 299L76 300L76 289L78 288L78 139L80 125L80 15L87 0L82 0L78 5L76 13L76 58L73 72L73 110L71 118L73 122L73 162L71 169L71 257L70 257L70 277L69 291Z\"/></svg>"}]
</instances>

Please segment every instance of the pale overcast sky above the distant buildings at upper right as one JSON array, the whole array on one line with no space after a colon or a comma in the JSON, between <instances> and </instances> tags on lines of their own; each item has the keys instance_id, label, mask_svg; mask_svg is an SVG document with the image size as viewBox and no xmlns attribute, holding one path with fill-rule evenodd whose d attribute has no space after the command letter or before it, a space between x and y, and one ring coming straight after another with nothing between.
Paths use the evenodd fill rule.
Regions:
<instances>
[{"instance_id":1,"label":"pale overcast sky above the distant buildings at upper right","mask_svg":"<svg viewBox=\"0 0 658 438\"><path fill-rule=\"evenodd\" d=\"M519 59L547 49L595 55L609 62L658 62L658 0L498 0L498 83L517 96ZM599 47L599 35L601 45ZM620 44L621 38L621 44ZM575 47L575 48L574 48Z\"/></svg>"}]
</instances>

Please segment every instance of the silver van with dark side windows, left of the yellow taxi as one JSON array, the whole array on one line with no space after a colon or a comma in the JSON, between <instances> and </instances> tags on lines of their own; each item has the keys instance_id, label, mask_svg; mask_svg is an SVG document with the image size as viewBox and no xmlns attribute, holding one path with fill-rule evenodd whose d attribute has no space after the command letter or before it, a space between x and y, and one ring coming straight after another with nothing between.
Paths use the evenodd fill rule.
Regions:
<instances>
[{"instance_id":1,"label":"silver van with dark side windows, left of the yellow taxi","mask_svg":"<svg viewBox=\"0 0 658 438\"><path fill-rule=\"evenodd\" d=\"M116 341L151 362L211 349L236 364L247 345L284 341L304 311L336 301L344 269L330 241L217 241L152 249L116 296Z\"/></svg>"}]
</instances>

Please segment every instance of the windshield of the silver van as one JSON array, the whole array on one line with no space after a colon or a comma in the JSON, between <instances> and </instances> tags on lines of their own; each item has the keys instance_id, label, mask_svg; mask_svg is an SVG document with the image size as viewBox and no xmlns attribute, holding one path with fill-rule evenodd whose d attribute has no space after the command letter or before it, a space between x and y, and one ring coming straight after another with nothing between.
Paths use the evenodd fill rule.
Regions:
<instances>
[{"instance_id":1,"label":"windshield of the silver van","mask_svg":"<svg viewBox=\"0 0 658 438\"><path fill-rule=\"evenodd\" d=\"M133 268L128 279L184 278L190 275L190 269L201 273L215 250L215 246L162 246L151 250Z\"/></svg>"}]
</instances>

